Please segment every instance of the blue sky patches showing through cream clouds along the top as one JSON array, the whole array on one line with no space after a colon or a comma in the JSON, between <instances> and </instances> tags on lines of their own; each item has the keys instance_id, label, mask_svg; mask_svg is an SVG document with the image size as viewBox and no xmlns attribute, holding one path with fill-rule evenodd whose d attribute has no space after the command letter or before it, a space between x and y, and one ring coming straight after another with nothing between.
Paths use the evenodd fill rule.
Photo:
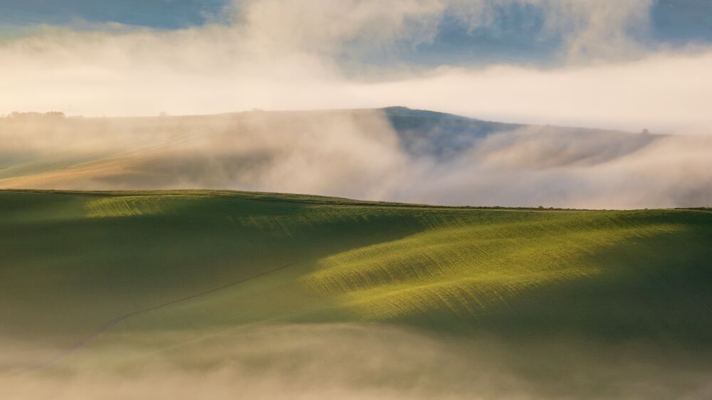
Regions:
<instances>
[{"instance_id":1,"label":"blue sky patches showing through cream clouds along the top","mask_svg":"<svg viewBox=\"0 0 712 400\"><path fill-rule=\"evenodd\" d=\"M239 6L230 0L1 0L0 23L6 36L43 24L122 23L172 30L224 23L226 11ZM645 38L649 44L680 46L689 41L712 40L709 1L656 0L644 12L651 22L650 34ZM422 63L431 63L432 56L451 63L477 62L483 54L499 60L543 59L551 56L552 47L560 43L560 38L542 41L536 37L545 19L541 10L512 2L512 6L494 18L496 27L476 30L468 29L458 19L444 18L439 21L435 40L408 52L407 56Z\"/></svg>"}]
</instances>

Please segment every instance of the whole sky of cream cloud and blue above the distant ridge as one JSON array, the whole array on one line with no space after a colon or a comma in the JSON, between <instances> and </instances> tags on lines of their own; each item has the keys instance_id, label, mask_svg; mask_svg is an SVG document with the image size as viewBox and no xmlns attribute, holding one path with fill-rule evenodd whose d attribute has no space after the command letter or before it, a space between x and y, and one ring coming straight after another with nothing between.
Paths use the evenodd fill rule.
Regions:
<instances>
[{"instance_id":1,"label":"whole sky of cream cloud and blue above the distant ridge","mask_svg":"<svg viewBox=\"0 0 712 400\"><path fill-rule=\"evenodd\" d=\"M706 0L0 0L0 114L404 105L712 131Z\"/></svg>"}]
</instances>

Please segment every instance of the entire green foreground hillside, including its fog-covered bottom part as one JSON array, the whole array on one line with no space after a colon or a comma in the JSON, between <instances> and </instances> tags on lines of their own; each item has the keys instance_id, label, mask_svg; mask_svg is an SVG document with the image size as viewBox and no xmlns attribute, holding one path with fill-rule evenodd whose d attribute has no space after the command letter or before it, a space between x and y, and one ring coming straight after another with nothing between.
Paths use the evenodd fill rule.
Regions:
<instances>
[{"instance_id":1,"label":"entire green foreground hillside, including its fog-covered bottom part","mask_svg":"<svg viewBox=\"0 0 712 400\"><path fill-rule=\"evenodd\" d=\"M0 191L0 381L61 399L206 396L194 379L219 398L697 396L710 243L703 209Z\"/></svg>"}]
</instances>

